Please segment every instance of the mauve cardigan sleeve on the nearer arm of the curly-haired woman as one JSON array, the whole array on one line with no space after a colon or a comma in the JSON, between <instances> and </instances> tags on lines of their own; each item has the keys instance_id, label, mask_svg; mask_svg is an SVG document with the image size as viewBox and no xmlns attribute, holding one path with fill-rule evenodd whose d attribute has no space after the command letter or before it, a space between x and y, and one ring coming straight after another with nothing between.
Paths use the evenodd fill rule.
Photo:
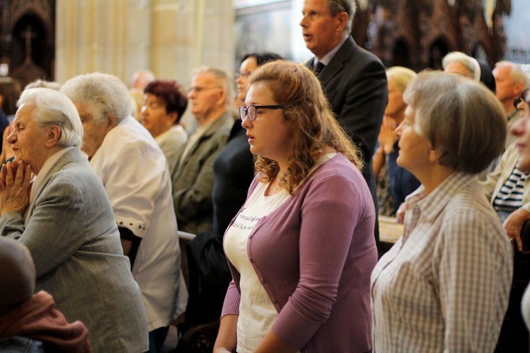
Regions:
<instances>
[{"instance_id":1,"label":"mauve cardigan sleeve on the nearer arm of the curly-haired woman","mask_svg":"<svg viewBox=\"0 0 530 353\"><path fill-rule=\"evenodd\" d=\"M360 174L359 179L364 183ZM353 236L361 242L373 239L375 221L368 189L361 192L341 173L312 185L300 214L299 283L272 325L283 343L297 348L308 343L326 323L337 298L344 264L351 261L348 256ZM369 280L369 273L366 276Z\"/></svg>"}]
</instances>

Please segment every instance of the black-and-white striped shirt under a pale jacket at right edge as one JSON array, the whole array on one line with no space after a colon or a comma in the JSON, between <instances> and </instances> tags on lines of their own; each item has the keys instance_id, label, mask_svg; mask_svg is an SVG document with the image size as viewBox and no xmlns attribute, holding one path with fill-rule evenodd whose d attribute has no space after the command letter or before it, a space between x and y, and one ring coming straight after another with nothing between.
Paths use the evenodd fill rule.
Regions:
<instances>
[{"instance_id":1,"label":"black-and-white striped shirt under a pale jacket at right edge","mask_svg":"<svg viewBox=\"0 0 530 353\"><path fill-rule=\"evenodd\" d=\"M522 206L522 194L524 182L527 181L528 173L522 172L516 165L510 177L504 182L495 199L493 208L497 211L513 212Z\"/></svg>"}]
</instances>

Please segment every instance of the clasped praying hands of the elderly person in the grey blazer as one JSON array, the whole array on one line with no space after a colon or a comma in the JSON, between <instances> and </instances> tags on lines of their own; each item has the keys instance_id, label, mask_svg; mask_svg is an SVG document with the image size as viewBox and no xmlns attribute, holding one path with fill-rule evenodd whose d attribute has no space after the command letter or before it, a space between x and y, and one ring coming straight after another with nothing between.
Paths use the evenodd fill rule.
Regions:
<instances>
[{"instance_id":1,"label":"clasped praying hands of the elderly person in the grey blazer","mask_svg":"<svg viewBox=\"0 0 530 353\"><path fill-rule=\"evenodd\" d=\"M0 170L0 213L17 211L24 215L30 199L31 168L26 163L8 162Z\"/></svg>"}]
</instances>

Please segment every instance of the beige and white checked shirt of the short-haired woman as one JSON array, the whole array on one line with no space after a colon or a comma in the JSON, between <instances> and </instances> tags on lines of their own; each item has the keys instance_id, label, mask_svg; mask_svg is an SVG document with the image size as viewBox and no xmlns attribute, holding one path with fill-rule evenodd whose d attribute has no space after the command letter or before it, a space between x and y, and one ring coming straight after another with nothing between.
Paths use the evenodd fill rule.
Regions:
<instances>
[{"instance_id":1,"label":"beige and white checked shirt of the short-haired woman","mask_svg":"<svg viewBox=\"0 0 530 353\"><path fill-rule=\"evenodd\" d=\"M403 236L371 275L373 352L493 352L513 259L477 178L406 199Z\"/></svg>"}]
</instances>

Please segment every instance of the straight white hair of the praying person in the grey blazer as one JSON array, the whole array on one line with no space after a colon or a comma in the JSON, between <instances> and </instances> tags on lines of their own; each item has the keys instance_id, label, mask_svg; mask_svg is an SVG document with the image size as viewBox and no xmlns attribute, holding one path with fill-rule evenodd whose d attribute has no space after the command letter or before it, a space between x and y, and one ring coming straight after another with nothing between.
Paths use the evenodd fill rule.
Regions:
<instances>
[{"instance_id":1,"label":"straight white hair of the praying person in the grey blazer","mask_svg":"<svg viewBox=\"0 0 530 353\"><path fill-rule=\"evenodd\" d=\"M33 120L37 125L59 126L61 136L58 145L62 147L81 145L83 137L81 119L76 106L67 96L55 89L43 87L25 89L17 102L17 107L23 104L35 105Z\"/></svg>"}]
</instances>

